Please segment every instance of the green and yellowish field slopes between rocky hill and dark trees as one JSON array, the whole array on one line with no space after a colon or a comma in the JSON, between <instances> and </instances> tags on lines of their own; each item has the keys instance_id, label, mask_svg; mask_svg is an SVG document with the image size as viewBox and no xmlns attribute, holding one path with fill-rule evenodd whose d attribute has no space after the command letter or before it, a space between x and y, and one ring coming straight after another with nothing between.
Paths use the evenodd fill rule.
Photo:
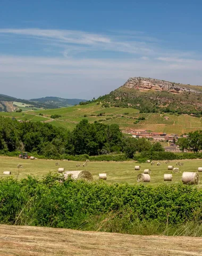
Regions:
<instances>
[{"instance_id":1,"label":"green and yellowish field slopes between rocky hill and dark trees","mask_svg":"<svg viewBox=\"0 0 202 256\"><path fill-rule=\"evenodd\" d=\"M102 116L98 116L100 113L102 113ZM147 129L154 132L182 134L202 129L202 119L199 117L159 113L139 113L139 110L133 108L104 108L101 104L96 105L96 103L60 109L28 110L23 113L1 112L0 115L11 118L15 117L18 120L49 122L55 126L61 126L70 130L73 130L83 118L88 119L90 123L95 121L105 124L116 123L120 126L121 130L132 128ZM61 115L61 117L53 119L51 118L51 115ZM165 120L164 116L169 117L169 119ZM145 117L145 120L136 123L137 118L139 117Z\"/></svg>"}]
</instances>

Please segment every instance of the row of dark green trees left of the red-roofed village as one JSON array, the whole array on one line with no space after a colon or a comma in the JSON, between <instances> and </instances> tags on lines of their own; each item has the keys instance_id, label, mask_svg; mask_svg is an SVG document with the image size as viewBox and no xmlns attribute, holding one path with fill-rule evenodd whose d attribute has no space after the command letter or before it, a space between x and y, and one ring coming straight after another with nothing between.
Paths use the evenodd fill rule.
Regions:
<instances>
[{"instance_id":1,"label":"row of dark green trees left of the red-roofed village","mask_svg":"<svg viewBox=\"0 0 202 256\"><path fill-rule=\"evenodd\" d=\"M161 143L146 139L125 138L117 124L89 123L83 119L73 131L48 123L23 122L0 118L1 153L28 151L45 157L60 155L106 155L125 153L133 158L136 152L164 151Z\"/></svg>"}]
</instances>

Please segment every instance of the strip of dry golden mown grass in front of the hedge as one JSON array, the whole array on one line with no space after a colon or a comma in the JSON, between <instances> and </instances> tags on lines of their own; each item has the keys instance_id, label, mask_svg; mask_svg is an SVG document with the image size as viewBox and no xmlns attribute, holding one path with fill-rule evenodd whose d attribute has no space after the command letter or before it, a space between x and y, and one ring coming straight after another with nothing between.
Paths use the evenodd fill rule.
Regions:
<instances>
[{"instance_id":1,"label":"strip of dry golden mown grass in front of the hedge","mask_svg":"<svg viewBox=\"0 0 202 256\"><path fill-rule=\"evenodd\" d=\"M0 225L0 255L201 256L202 238Z\"/></svg>"}]
</instances>

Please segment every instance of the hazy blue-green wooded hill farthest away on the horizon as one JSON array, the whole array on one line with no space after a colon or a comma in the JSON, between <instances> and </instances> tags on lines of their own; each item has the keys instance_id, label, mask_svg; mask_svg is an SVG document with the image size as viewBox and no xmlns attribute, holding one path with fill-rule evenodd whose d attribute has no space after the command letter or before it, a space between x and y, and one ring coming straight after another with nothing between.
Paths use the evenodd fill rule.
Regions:
<instances>
[{"instance_id":1,"label":"hazy blue-green wooded hill farthest away on the horizon","mask_svg":"<svg viewBox=\"0 0 202 256\"><path fill-rule=\"evenodd\" d=\"M39 99L30 99L30 101L51 104L51 105L55 105L56 107L70 107L73 105L78 105L81 101L86 102L87 100L63 99L63 98L58 98L58 97L44 97L44 98L39 98Z\"/></svg>"}]
</instances>

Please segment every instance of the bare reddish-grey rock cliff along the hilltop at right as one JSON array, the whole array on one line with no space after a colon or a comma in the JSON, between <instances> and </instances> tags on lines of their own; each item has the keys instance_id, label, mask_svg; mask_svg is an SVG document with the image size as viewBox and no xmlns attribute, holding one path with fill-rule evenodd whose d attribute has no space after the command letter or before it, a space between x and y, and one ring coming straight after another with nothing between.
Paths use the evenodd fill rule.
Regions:
<instances>
[{"instance_id":1,"label":"bare reddish-grey rock cliff along the hilltop at right","mask_svg":"<svg viewBox=\"0 0 202 256\"><path fill-rule=\"evenodd\" d=\"M183 92L193 92L200 93L198 91L183 87L183 85L178 85L175 83L153 79L153 78L144 78L144 77L131 77L123 85L129 89L136 89L140 91L167 91L171 93L183 93Z\"/></svg>"}]
</instances>

